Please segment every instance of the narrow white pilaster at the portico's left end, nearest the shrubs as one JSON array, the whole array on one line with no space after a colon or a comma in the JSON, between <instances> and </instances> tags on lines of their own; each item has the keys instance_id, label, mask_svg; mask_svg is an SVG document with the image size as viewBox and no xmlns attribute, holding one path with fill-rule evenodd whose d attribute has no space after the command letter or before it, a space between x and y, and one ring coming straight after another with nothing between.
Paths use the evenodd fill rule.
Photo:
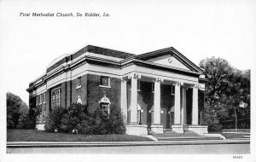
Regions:
<instances>
[{"instance_id":1,"label":"narrow white pilaster at the portico's left end, nearest the shrubs","mask_svg":"<svg viewBox=\"0 0 256 162\"><path fill-rule=\"evenodd\" d=\"M127 80L121 79L121 111L123 114L124 122L127 123Z\"/></svg>"}]
</instances>

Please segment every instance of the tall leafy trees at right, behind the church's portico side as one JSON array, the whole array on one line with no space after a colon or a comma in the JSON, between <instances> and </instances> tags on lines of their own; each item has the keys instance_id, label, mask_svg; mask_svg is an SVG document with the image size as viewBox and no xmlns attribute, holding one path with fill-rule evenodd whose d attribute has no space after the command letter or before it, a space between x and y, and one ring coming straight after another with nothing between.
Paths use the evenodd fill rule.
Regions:
<instances>
[{"instance_id":1,"label":"tall leafy trees at right, behind the church's portico side","mask_svg":"<svg viewBox=\"0 0 256 162\"><path fill-rule=\"evenodd\" d=\"M235 128L237 119L239 128L249 128L250 71L237 70L215 57L201 61L200 67L207 77L204 119L209 130Z\"/></svg>"}]
</instances>

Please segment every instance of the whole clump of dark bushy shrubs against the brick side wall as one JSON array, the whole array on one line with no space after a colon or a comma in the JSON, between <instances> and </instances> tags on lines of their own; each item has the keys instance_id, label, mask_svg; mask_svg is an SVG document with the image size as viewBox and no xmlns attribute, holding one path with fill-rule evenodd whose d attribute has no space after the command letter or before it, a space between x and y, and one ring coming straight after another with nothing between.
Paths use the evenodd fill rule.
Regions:
<instances>
[{"instance_id":1,"label":"whole clump of dark bushy shrubs against the brick side wall","mask_svg":"<svg viewBox=\"0 0 256 162\"><path fill-rule=\"evenodd\" d=\"M73 103L68 109L55 107L46 119L45 130L55 129L84 135L124 134L125 125L119 108L112 107L106 114L100 107L89 113L85 105Z\"/></svg>"}]
</instances>

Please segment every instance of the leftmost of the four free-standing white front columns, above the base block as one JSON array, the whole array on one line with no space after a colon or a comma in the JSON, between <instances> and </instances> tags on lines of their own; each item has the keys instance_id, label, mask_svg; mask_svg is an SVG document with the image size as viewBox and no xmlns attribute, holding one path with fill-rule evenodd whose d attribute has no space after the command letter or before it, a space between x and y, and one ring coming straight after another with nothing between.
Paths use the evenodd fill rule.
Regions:
<instances>
[{"instance_id":1,"label":"leftmost of the four free-standing white front columns, above the base block","mask_svg":"<svg viewBox=\"0 0 256 162\"><path fill-rule=\"evenodd\" d=\"M137 124L137 74L131 77L131 124Z\"/></svg>"}]
</instances>

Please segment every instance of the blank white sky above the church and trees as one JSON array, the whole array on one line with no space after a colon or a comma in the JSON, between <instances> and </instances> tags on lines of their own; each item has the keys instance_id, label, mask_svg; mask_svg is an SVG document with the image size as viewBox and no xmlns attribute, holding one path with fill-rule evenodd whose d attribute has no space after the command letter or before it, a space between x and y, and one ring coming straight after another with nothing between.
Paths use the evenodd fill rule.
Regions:
<instances>
[{"instance_id":1,"label":"blank white sky above the church and trees","mask_svg":"<svg viewBox=\"0 0 256 162\"><path fill-rule=\"evenodd\" d=\"M174 47L196 65L221 57L241 70L256 61L256 1L0 1L0 90L28 104L28 84L56 57L93 44L132 54ZM33 17L20 13L108 13Z\"/></svg>"}]
</instances>

